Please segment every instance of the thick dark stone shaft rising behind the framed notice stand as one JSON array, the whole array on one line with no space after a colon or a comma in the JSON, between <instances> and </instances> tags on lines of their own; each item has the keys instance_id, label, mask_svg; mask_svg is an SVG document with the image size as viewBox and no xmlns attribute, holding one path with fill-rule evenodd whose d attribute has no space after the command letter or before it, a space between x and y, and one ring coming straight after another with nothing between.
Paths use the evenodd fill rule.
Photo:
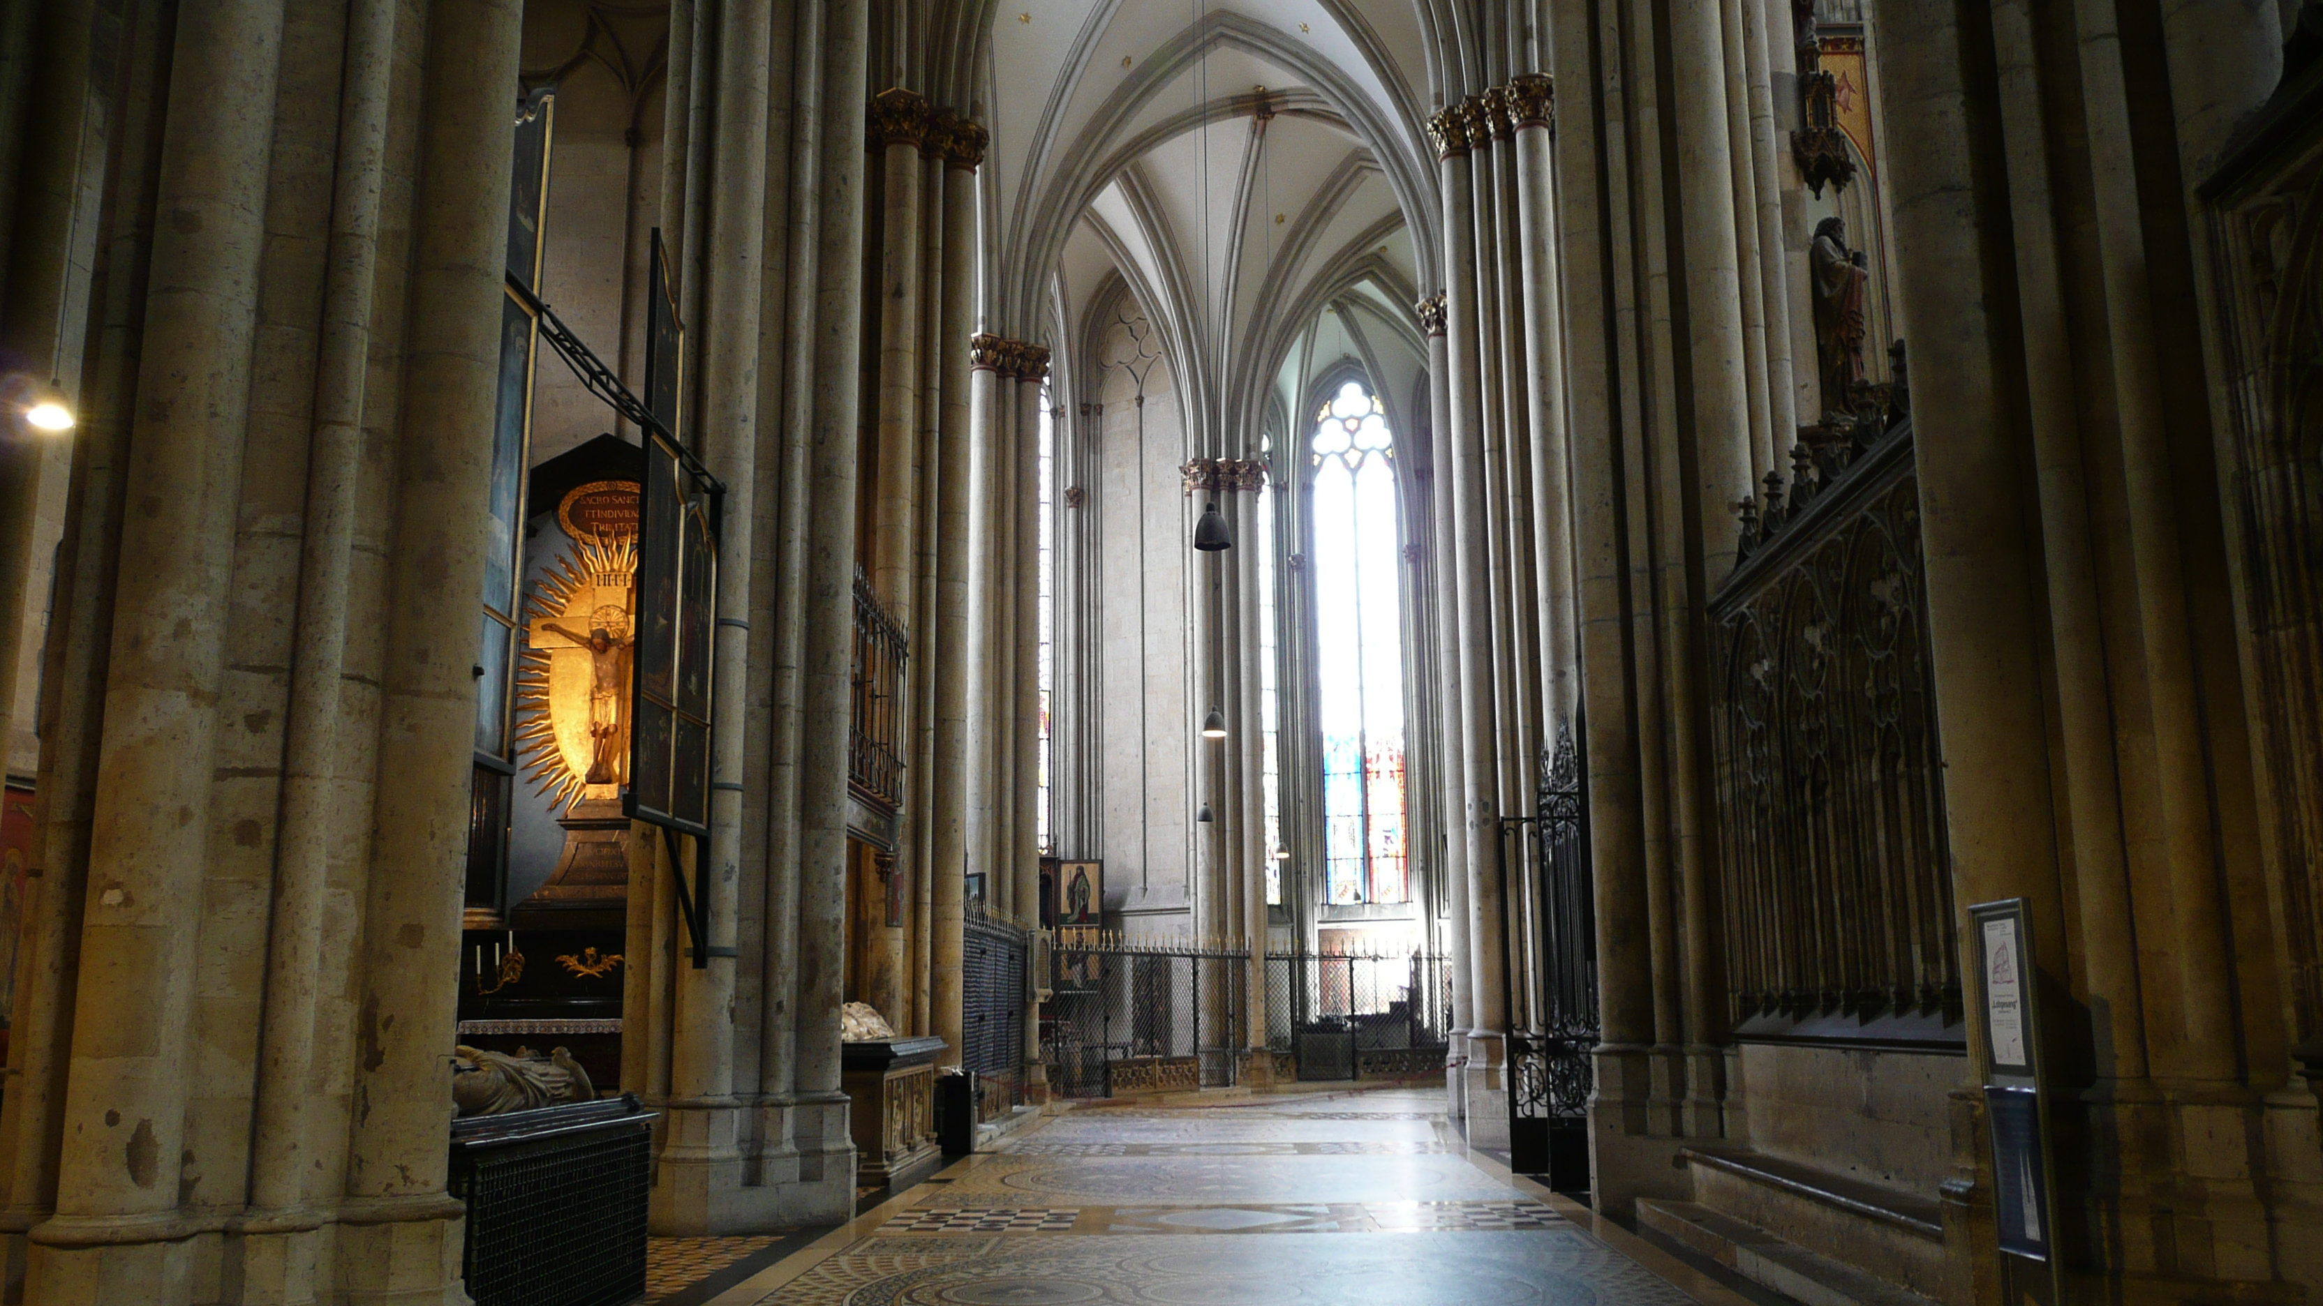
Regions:
<instances>
[{"instance_id":1,"label":"thick dark stone shaft rising behind the framed notice stand","mask_svg":"<svg viewBox=\"0 0 2323 1306\"><path fill-rule=\"evenodd\" d=\"M2007 239L2007 211L1979 177L2000 160L1977 158L1970 132L1982 116L1988 33L1958 26L1951 5L1905 5L1882 14L1879 79L1893 105L1923 112L1889 116L1896 151L1889 186L1896 204L1900 304L1912 342L1912 388L1949 402L1914 404L1921 553L1928 586L1928 653L1944 758L1944 830L1954 902L2033 899L2035 946L2065 955L2056 878L2056 813L2049 792L2049 734L2040 702L2042 639L2035 613L2035 523L2023 502L2023 442L1995 374L1995 351L2012 325L1986 270L1988 242ZM1991 167L1993 172L1986 172ZM1975 943L1961 932L1963 983L1979 1002ZM1982 1041L1972 1041L1972 1055Z\"/></svg>"}]
</instances>

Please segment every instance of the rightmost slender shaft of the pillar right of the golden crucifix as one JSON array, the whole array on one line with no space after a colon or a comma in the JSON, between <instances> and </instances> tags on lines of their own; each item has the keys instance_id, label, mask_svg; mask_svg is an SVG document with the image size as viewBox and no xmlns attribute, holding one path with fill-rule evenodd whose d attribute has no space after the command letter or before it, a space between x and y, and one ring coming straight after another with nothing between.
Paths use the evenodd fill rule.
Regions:
<instances>
[{"instance_id":1,"label":"rightmost slender shaft of the pillar right of the golden crucifix","mask_svg":"<svg viewBox=\"0 0 2323 1306\"><path fill-rule=\"evenodd\" d=\"M813 528L799 741L799 1178L853 1181L839 1090L846 967L848 702L855 634L855 469L862 367L864 56L869 5L832 0L822 40L822 198L815 290ZM846 1187L853 1192L850 1187Z\"/></svg>"}]
</instances>

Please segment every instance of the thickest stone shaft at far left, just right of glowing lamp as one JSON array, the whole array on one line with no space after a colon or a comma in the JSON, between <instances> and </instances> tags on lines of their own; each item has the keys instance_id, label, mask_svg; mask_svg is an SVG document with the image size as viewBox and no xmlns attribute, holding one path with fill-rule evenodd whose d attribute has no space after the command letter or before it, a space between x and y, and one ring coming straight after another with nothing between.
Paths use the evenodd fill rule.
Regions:
<instances>
[{"instance_id":1,"label":"thickest stone shaft at far left, just right of glowing lamp","mask_svg":"<svg viewBox=\"0 0 2323 1306\"><path fill-rule=\"evenodd\" d=\"M56 1301L130 1301L132 1278L165 1283L188 1257L160 1241L190 1232L204 844L188 830L211 797L281 35L279 0L218 5L179 21L172 53L156 207L177 221L153 232L63 1160L28 1271ZM107 1287L100 1260L135 1271Z\"/></svg>"}]
</instances>

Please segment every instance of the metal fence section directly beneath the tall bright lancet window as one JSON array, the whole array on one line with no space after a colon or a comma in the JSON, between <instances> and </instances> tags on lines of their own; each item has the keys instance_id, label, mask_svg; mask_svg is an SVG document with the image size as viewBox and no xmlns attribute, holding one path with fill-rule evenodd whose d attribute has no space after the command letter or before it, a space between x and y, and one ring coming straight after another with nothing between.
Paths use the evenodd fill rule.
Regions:
<instances>
[{"instance_id":1,"label":"metal fence section directly beneath the tall bright lancet window","mask_svg":"<svg viewBox=\"0 0 2323 1306\"><path fill-rule=\"evenodd\" d=\"M1440 953L1271 953L1266 1046L1299 1078L1401 1078L1440 1071L1452 971Z\"/></svg>"}]
</instances>

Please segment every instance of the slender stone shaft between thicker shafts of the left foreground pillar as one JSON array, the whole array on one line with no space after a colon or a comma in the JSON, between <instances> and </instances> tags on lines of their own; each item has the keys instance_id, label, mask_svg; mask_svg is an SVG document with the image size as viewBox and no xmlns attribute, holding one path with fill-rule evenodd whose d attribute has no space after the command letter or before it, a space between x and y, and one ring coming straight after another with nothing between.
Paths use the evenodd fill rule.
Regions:
<instances>
[{"instance_id":1,"label":"slender stone shaft between thicker shafts of the left foreground pillar","mask_svg":"<svg viewBox=\"0 0 2323 1306\"><path fill-rule=\"evenodd\" d=\"M346 669L348 567L355 553L355 486L362 476L362 404L372 367L372 290L393 56L395 5L351 5L251 1143L251 1206L269 1213L288 1213L314 1197L307 1139L323 911L332 860L358 837L341 811L348 795L339 776L351 723L341 709L339 676Z\"/></svg>"}]
</instances>

